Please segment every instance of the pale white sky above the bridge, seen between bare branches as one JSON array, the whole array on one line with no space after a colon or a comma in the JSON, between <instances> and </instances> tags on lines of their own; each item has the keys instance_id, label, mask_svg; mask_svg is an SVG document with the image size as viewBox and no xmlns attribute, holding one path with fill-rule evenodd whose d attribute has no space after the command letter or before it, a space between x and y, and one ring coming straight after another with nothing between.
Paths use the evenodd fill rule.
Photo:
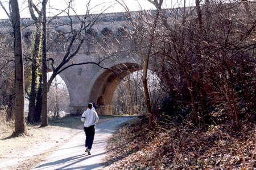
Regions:
<instances>
[{"instance_id":1,"label":"pale white sky above the bridge, seen between bare branches","mask_svg":"<svg viewBox=\"0 0 256 170\"><path fill-rule=\"evenodd\" d=\"M9 11L9 0L0 0L5 6L6 10ZM73 0L72 7L75 9L76 13L79 15L85 14L86 12L86 3L89 0ZM148 2L147 0L118 0L124 1L130 11L138 10L150 10L155 9L155 7ZM154 1L154 0L153 0ZM172 7L182 7L182 2L184 0L164 0L163 8L172 8ZM194 0L191 0L194 1ZM18 0L20 8L21 18L30 18L30 14L27 9L27 0ZM39 0L33 0L36 4ZM53 16L58 14L60 10L63 10L67 7L68 0L48 0L47 4L47 16ZM191 2L186 0L187 6ZM58 9L58 10L53 10ZM104 11L104 13L118 13L125 11L121 5L119 5L115 0L91 0L90 2L90 13L97 14ZM107 9L107 10L106 10ZM71 13L74 15L75 13ZM65 14L62 14L65 15ZM0 7L0 19L7 18L5 11Z\"/></svg>"}]
</instances>

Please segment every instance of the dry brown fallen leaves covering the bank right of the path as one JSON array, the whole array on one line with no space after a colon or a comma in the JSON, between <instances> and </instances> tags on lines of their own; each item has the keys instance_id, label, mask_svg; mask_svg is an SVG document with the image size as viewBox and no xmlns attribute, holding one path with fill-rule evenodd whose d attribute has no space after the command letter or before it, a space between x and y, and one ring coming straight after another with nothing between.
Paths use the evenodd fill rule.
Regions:
<instances>
[{"instance_id":1,"label":"dry brown fallen leaves covering the bank right of the path","mask_svg":"<svg viewBox=\"0 0 256 170\"><path fill-rule=\"evenodd\" d=\"M109 139L106 169L250 169L255 166L256 133L252 122L242 121L241 131L234 132L231 124L197 128L189 122L179 126L162 124L151 131L145 121L133 119Z\"/></svg>"}]
</instances>

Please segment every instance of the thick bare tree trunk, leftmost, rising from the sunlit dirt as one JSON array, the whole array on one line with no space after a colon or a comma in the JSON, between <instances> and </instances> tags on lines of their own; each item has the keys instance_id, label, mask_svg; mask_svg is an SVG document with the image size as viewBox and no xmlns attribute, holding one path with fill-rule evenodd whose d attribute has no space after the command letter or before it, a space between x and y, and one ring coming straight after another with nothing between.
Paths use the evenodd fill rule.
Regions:
<instances>
[{"instance_id":1,"label":"thick bare tree trunk, leftmost, rising from the sunlit dirt","mask_svg":"<svg viewBox=\"0 0 256 170\"><path fill-rule=\"evenodd\" d=\"M14 56L15 56L15 134L25 131L24 119L24 66L22 54L22 35L19 16L19 5L17 0L10 0L11 15L14 30Z\"/></svg>"}]
</instances>

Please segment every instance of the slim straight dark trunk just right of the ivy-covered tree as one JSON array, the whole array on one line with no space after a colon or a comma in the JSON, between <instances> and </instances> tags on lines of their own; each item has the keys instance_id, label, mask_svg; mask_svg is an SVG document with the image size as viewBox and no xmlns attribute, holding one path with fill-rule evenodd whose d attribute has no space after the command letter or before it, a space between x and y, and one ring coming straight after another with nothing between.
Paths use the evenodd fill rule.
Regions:
<instances>
[{"instance_id":1,"label":"slim straight dark trunk just right of the ivy-covered tree","mask_svg":"<svg viewBox=\"0 0 256 170\"><path fill-rule=\"evenodd\" d=\"M47 0L43 0L43 28L42 28L42 79L43 79L43 93L42 93L42 121L41 127L48 126L47 118L47 56L46 56L46 4Z\"/></svg>"}]
</instances>

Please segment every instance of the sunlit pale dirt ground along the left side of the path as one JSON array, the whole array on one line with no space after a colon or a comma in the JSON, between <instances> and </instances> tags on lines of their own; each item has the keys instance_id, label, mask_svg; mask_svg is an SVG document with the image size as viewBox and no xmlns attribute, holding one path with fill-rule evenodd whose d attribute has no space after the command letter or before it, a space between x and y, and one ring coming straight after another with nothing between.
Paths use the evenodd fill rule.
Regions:
<instances>
[{"instance_id":1,"label":"sunlit pale dirt ground along the left side of the path","mask_svg":"<svg viewBox=\"0 0 256 170\"><path fill-rule=\"evenodd\" d=\"M100 119L100 122L111 118ZM0 134L0 169L31 169L67 140L83 131L82 123L76 128L28 126L26 134L11 137L11 132Z\"/></svg>"}]
</instances>

